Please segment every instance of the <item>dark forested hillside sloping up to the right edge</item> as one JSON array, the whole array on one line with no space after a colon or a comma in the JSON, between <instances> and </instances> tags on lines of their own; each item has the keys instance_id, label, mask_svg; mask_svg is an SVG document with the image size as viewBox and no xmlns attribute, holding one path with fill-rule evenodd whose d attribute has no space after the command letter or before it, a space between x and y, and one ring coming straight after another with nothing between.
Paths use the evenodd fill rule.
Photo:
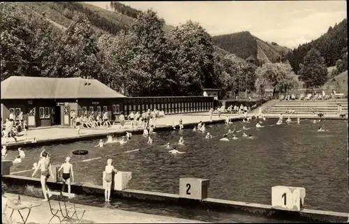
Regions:
<instances>
[{"instance_id":1,"label":"dark forested hillside sloping up to the right edge","mask_svg":"<svg viewBox=\"0 0 349 224\"><path fill-rule=\"evenodd\" d=\"M335 66L338 59L342 59L343 53L348 45L347 42L347 19L344 19L334 27L329 27L327 32L310 43L299 45L288 53L287 58L292 68L297 73L299 64L302 64L304 56L311 48L318 50L325 59L327 67Z\"/></svg>"}]
</instances>

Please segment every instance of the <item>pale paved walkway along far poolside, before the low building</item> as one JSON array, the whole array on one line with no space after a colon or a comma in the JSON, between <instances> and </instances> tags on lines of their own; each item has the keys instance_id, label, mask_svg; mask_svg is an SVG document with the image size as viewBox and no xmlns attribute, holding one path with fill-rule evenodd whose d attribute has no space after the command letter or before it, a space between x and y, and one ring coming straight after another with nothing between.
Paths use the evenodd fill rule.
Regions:
<instances>
[{"instance_id":1,"label":"pale paved walkway along far poolside, before the low building","mask_svg":"<svg viewBox=\"0 0 349 224\"><path fill-rule=\"evenodd\" d=\"M175 115L166 115L165 117L160 117L156 119L156 128L161 127L171 127L173 122L174 124L178 123L179 119L183 119L183 124L198 124L199 121L202 122L209 122L209 113L195 113L195 114L175 114ZM212 117L212 121L223 122L225 119L226 114L222 114L221 118L218 118L217 114L214 114ZM240 114L229 114L231 119L241 119L243 116ZM121 128L120 124L115 124L110 128L82 128L80 130L80 134L77 134L77 130L73 130L73 128L69 127L43 127L43 128L33 128L28 130L28 140L25 141L25 136L17 137L17 142L13 138L8 138L8 142L6 142L5 137L1 137L1 146L2 145L8 145L8 146L15 146L15 147L22 147L25 144L25 147L29 147L31 145L31 140L33 138L36 138L37 142L40 141L50 141L52 140L64 140L64 139L74 139L79 137L87 137L95 135L96 137L98 135L107 135L108 133L123 133L125 131L132 131L131 122L127 121L124 128ZM33 144L34 145L34 144Z\"/></svg>"}]
</instances>

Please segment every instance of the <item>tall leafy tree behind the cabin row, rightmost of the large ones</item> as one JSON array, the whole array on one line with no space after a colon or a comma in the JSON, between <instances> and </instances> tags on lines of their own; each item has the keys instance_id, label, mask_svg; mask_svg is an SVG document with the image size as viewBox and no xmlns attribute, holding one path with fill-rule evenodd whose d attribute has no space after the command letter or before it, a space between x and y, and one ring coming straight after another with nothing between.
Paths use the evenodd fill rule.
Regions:
<instances>
[{"instance_id":1,"label":"tall leafy tree behind the cabin row, rightmost of the large ones","mask_svg":"<svg viewBox=\"0 0 349 224\"><path fill-rule=\"evenodd\" d=\"M203 88L216 87L214 47L211 36L200 24L188 21L168 36L174 73L172 87L183 95L200 95Z\"/></svg>"}]
</instances>

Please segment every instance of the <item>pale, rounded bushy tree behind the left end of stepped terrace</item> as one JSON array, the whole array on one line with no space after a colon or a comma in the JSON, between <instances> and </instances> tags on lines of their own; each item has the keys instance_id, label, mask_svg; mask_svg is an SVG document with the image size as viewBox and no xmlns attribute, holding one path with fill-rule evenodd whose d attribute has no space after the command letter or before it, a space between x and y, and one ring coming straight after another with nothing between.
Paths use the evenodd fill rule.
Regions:
<instances>
[{"instance_id":1,"label":"pale, rounded bushy tree behind the left end of stepped terrace","mask_svg":"<svg viewBox=\"0 0 349 224\"><path fill-rule=\"evenodd\" d=\"M260 94L264 93L267 87L274 89L274 96L276 91L287 93L289 90L296 89L300 85L298 76L295 75L290 64L266 63L262 67L257 68L255 74L257 76L255 89Z\"/></svg>"}]
</instances>

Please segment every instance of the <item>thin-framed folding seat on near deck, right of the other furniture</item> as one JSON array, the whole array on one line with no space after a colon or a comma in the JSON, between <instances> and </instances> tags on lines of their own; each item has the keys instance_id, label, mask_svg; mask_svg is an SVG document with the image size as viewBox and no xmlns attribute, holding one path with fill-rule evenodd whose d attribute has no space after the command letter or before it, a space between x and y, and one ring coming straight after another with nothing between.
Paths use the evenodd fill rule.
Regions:
<instances>
[{"instance_id":1,"label":"thin-framed folding seat on near deck, right of the other furniture","mask_svg":"<svg viewBox=\"0 0 349 224\"><path fill-rule=\"evenodd\" d=\"M64 192L51 192L52 195L54 195L54 200L58 201L58 207L54 208L53 201L50 199L48 200L48 204L50 206L50 212L52 214L52 217L50 218L50 222L54 218L59 219L59 223L63 223L66 221L66 223L81 223L82 217L85 214L86 210L82 209L76 209L75 207L75 194L72 193L64 193Z\"/></svg>"}]
</instances>

